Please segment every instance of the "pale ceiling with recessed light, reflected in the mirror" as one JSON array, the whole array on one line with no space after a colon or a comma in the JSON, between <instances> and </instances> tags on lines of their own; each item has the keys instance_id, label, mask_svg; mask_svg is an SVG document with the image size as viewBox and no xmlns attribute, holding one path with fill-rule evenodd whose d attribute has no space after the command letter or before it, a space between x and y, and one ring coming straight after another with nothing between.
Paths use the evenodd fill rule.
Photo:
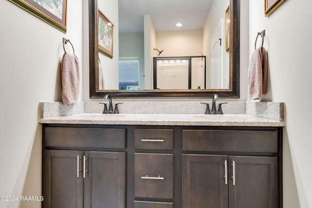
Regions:
<instances>
[{"instance_id":1,"label":"pale ceiling with recessed light, reflected in the mirror","mask_svg":"<svg viewBox=\"0 0 312 208\"><path fill-rule=\"evenodd\" d=\"M143 16L150 15L155 30L202 30L213 0L118 0L119 33L143 32ZM176 23L182 27L176 27Z\"/></svg>"}]
</instances>

